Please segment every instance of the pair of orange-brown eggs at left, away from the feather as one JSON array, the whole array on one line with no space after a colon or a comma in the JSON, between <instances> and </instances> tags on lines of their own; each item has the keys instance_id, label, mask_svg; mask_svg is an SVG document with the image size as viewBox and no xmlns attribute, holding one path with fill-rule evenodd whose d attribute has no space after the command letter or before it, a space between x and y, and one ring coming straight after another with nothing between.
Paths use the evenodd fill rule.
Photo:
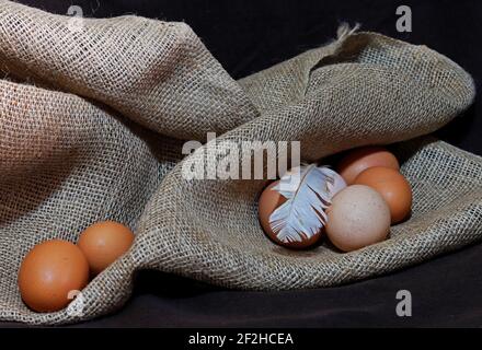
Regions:
<instances>
[{"instance_id":1,"label":"pair of orange-brown eggs at left, away from the feather","mask_svg":"<svg viewBox=\"0 0 482 350\"><path fill-rule=\"evenodd\" d=\"M130 247L134 233L114 221L89 226L77 245L49 240L35 245L19 270L19 288L24 303L35 312L66 307L72 292L82 290L94 277Z\"/></svg>"}]
</instances>

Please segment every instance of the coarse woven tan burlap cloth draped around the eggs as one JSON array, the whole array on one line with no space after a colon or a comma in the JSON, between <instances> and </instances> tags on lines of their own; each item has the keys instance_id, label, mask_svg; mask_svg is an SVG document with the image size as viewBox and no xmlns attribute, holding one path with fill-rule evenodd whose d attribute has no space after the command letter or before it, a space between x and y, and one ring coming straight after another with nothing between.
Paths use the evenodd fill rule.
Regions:
<instances>
[{"instance_id":1,"label":"coarse woven tan burlap cloth draped around the eggs","mask_svg":"<svg viewBox=\"0 0 482 350\"><path fill-rule=\"evenodd\" d=\"M127 300L139 269L246 290L317 288L482 236L482 159L420 138L467 108L473 82L427 47L342 27L336 40L237 82L184 23L122 16L71 31L69 20L0 1L0 319L105 314ZM278 247L257 222L265 180L182 177L184 141L208 131L218 142L300 140L307 161L394 143L412 218L349 254ZM107 218L136 241L83 290L81 312L30 311L16 285L26 252L76 242Z\"/></svg>"}]
</instances>

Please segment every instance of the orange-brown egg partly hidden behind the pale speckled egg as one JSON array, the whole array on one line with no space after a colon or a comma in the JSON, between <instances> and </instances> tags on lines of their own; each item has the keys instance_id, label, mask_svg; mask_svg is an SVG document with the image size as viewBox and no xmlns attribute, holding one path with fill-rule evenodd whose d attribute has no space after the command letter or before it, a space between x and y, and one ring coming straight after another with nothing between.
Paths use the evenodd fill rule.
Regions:
<instances>
[{"instance_id":1,"label":"orange-brown egg partly hidden behind the pale speckled egg","mask_svg":"<svg viewBox=\"0 0 482 350\"><path fill-rule=\"evenodd\" d=\"M412 188L399 171L389 167L370 167L362 172L355 184L376 189L390 207L391 222L405 219L412 208Z\"/></svg>"}]
</instances>

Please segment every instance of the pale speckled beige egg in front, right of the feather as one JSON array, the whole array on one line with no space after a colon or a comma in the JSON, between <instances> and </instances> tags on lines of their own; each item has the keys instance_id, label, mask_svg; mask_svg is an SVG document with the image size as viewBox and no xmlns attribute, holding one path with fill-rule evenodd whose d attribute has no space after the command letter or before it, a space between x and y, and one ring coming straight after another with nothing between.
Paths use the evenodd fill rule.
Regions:
<instances>
[{"instance_id":1,"label":"pale speckled beige egg in front, right of the feather","mask_svg":"<svg viewBox=\"0 0 482 350\"><path fill-rule=\"evenodd\" d=\"M326 235L341 250L352 252L383 241L390 231L390 209L375 189L352 185L326 210Z\"/></svg>"}]
</instances>

